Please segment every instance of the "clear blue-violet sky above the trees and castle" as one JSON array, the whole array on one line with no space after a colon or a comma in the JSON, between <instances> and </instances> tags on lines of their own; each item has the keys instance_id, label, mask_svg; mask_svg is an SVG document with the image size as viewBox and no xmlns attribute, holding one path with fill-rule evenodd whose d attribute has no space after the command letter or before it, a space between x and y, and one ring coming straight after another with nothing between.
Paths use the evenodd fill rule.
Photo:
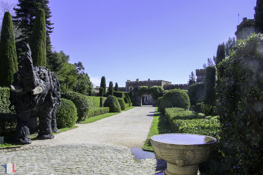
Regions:
<instances>
[{"instance_id":1,"label":"clear blue-violet sky above the trees and castle","mask_svg":"<svg viewBox=\"0 0 263 175\"><path fill-rule=\"evenodd\" d=\"M256 0L50 0L51 42L81 61L99 86L109 81L186 84L217 45L254 18Z\"/></svg>"}]
</instances>

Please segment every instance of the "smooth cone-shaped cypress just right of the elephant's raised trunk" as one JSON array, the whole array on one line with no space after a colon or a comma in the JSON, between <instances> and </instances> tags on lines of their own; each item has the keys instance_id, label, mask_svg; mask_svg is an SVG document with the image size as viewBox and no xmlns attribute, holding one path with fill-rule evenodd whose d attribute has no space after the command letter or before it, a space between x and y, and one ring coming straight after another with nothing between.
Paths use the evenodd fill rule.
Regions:
<instances>
[{"instance_id":1,"label":"smooth cone-shaped cypress just right of the elephant's raised trunk","mask_svg":"<svg viewBox=\"0 0 263 175\"><path fill-rule=\"evenodd\" d=\"M46 24L45 11L38 9L29 46L34 66L46 67Z\"/></svg>"}]
</instances>

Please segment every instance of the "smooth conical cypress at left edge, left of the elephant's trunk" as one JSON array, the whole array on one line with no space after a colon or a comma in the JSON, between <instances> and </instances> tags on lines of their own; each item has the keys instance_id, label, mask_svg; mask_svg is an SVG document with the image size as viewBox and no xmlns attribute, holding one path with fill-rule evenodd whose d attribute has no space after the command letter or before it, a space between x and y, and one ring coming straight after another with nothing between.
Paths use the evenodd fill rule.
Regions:
<instances>
[{"instance_id":1,"label":"smooth conical cypress at left edge, left of the elephant's trunk","mask_svg":"<svg viewBox=\"0 0 263 175\"><path fill-rule=\"evenodd\" d=\"M10 86L18 71L12 16L5 12L0 41L0 86Z\"/></svg>"}]
</instances>

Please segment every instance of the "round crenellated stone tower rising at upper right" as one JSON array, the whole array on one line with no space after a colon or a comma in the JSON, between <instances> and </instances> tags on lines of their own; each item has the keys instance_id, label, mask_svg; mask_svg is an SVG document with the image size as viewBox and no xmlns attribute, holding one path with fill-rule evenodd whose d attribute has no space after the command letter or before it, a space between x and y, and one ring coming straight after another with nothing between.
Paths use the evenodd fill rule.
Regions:
<instances>
[{"instance_id":1,"label":"round crenellated stone tower rising at upper right","mask_svg":"<svg viewBox=\"0 0 263 175\"><path fill-rule=\"evenodd\" d=\"M254 22L254 19L243 18L243 21L240 23L240 25L236 26L236 39L246 39L250 33L254 33Z\"/></svg>"}]
</instances>

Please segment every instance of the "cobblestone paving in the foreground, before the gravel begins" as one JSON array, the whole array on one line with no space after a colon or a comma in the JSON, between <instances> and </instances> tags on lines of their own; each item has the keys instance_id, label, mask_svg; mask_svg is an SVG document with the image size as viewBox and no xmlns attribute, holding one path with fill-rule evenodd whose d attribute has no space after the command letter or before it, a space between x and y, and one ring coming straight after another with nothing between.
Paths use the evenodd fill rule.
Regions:
<instances>
[{"instance_id":1,"label":"cobblestone paving in the foreground, before the gravel begins","mask_svg":"<svg viewBox=\"0 0 263 175\"><path fill-rule=\"evenodd\" d=\"M149 110L152 109L154 108ZM130 113L133 113L133 111ZM115 117L118 115L115 115ZM150 117L150 115L143 117ZM49 142L49 140L45 140L45 142ZM68 138L68 142L68 144L55 146L44 144L45 146L24 146L22 148L1 150L0 165L6 163L12 165L14 163L14 170L16 172L11 174L21 175L148 175L166 168L165 161L158 159L136 159L127 146L103 142L73 144L70 138ZM5 174L3 166L0 166L0 174Z\"/></svg>"}]
</instances>

